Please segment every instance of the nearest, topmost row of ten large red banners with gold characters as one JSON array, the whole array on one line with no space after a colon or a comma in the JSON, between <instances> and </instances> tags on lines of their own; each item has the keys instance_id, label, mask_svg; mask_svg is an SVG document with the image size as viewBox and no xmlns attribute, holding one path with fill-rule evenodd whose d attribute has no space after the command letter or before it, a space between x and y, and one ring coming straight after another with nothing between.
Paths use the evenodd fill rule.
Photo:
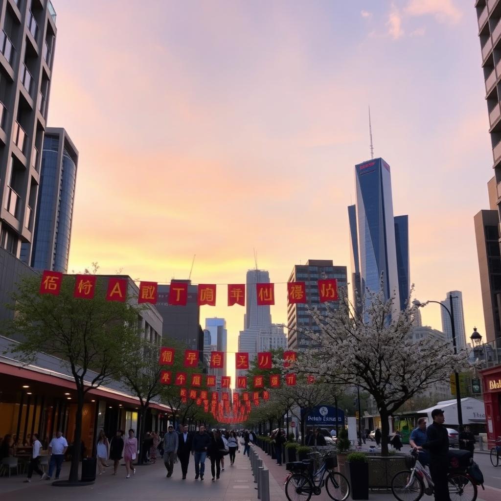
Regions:
<instances>
[{"instance_id":1,"label":"nearest, topmost row of ten large red banners with gold characters","mask_svg":"<svg viewBox=\"0 0 501 501\"><path fill-rule=\"evenodd\" d=\"M63 274L45 270L40 284L40 294L59 295L63 282ZM75 290L73 296L81 299L92 299L96 291L96 275L76 275ZM338 285L336 279L318 280L319 302L337 301ZM312 282L309 282L312 283ZM315 282L313 282L315 283ZM228 306L245 306L245 284L219 284L227 286ZM198 306L216 306L217 284L198 284ZM128 280L123 278L108 278L106 290L107 301L126 301ZM307 303L306 282L287 282L288 300L291 304ZM137 302L158 302L158 282L139 283ZM275 304L275 284L256 284L256 298L258 306L270 306ZM188 302L188 284L172 281L170 283L167 303L172 306L186 306Z\"/></svg>"}]
</instances>

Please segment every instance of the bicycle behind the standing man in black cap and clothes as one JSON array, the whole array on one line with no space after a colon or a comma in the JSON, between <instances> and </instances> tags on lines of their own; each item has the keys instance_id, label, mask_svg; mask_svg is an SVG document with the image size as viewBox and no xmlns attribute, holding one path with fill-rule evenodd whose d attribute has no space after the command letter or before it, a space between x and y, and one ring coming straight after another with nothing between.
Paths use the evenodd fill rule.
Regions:
<instances>
[{"instance_id":1,"label":"bicycle behind the standing man in black cap and clothes","mask_svg":"<svg viewBox=\"0 0 501 501\"><path fill-rule=\"evenodd\" d=\"M424 493L433 494L433 480L419 462L419 453L410 451L410 469L399 471L391 480L391 491L398 501L418 501ZM449 496L452 501L475 501L477 485L468 473L451 471L447 475Z\"/></svg>"}]
</instances>

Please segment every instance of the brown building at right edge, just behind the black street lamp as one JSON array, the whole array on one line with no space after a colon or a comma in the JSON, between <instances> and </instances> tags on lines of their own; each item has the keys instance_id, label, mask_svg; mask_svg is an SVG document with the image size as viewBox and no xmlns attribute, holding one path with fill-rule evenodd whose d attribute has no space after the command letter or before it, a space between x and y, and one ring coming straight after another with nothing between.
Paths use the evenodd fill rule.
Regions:
<instances>
[{"instance_id":1,"label":"brown building at right edge, just behind the black street lamp","mask_svg":"<svg viewBox=\"0 0 501 501\"><path fill-rule=\"evenodd\" d=\"M501 254L499 252L499 214L497 212L496 181L487 183L489 210L475 214L476 250L480 272L483 318L486 342L501 338Z\"/></svg>"}]
</instances>

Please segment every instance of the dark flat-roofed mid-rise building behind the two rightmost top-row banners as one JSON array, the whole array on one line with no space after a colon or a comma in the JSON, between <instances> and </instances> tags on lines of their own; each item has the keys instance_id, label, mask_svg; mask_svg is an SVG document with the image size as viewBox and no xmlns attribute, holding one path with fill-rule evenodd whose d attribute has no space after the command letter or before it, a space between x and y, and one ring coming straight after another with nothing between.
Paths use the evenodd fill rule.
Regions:
<instances>
[{"instance_id":1,"label":"dark flat-roofed mid-rise building behind the two rightmost top-row banners","mask_svg":"<svg viewBox=\"0 0 501 501\"><path fill-rule=\"evenodd\" d=\"M318 281L336 279L338 293L347 289L346 266L334 266L332 260L310 259L305 265L295 265L289 282L306 283L306 304L288 304L287 306L287 338L291 350L301 350L308 347L308 338L305 330L319 331L308 310L317 308L321 314L326 313L326 303L320 303L318 294ZM329 303L330 308L337 308L339 301Z\"/></svg>"}]
</instances>

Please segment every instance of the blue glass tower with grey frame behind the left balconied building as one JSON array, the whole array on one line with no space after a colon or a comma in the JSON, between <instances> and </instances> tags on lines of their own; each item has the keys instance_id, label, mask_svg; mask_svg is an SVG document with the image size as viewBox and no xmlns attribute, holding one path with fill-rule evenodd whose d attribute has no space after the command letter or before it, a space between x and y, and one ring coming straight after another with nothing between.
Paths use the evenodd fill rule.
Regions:
<instances>
[{"instance_id":1,"label":"blue glass tower with grey frame behind the left balconied building","mask_svg":"<svg viewBox=\"0 0 501 501\"><path fill-rule=\"evenodd\" d=\"M61 273L68 269L77 166L78 151L68 133L47 128L30 262L33 268ZM21 259L25 262L29 250L30 245L23 243Z\"/></svg>"}]
</instances>

